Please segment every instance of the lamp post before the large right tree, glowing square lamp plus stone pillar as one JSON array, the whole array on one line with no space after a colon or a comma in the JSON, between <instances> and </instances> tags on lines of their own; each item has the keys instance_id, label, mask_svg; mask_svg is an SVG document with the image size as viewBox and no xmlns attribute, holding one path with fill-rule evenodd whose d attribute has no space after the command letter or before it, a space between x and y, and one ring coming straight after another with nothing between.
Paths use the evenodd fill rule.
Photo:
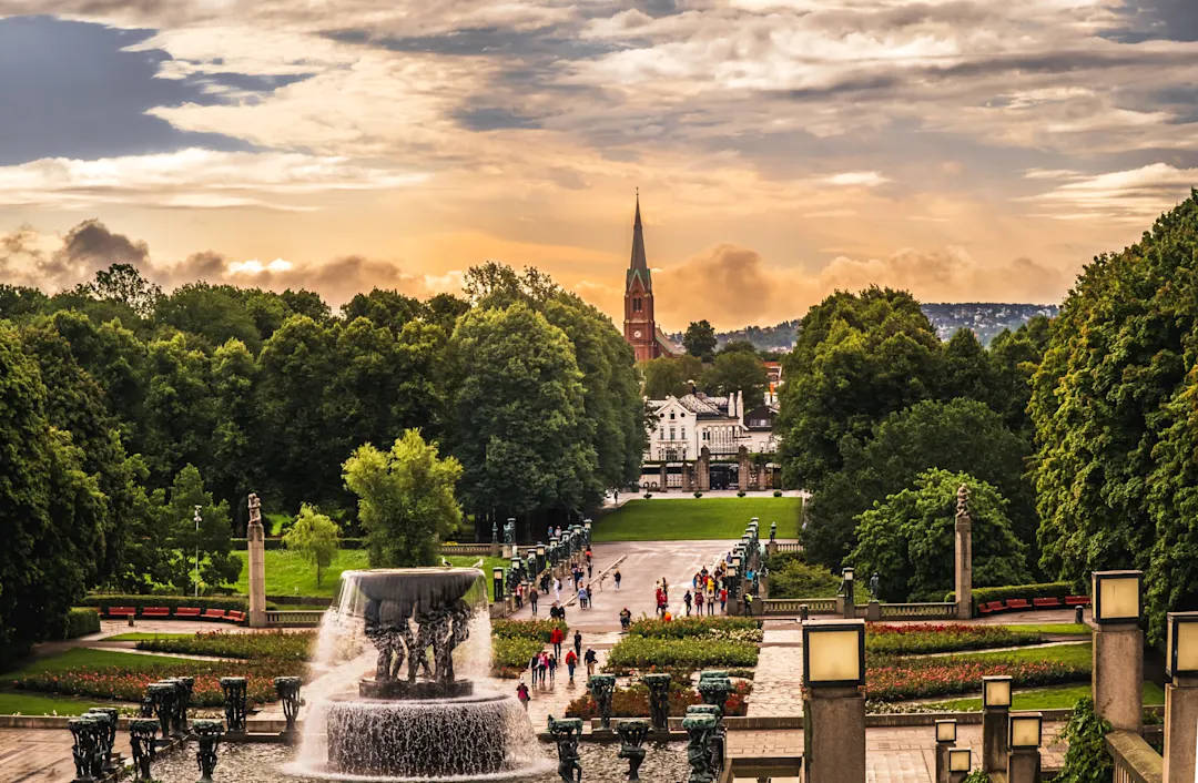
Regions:
<instances>
[{"instance_id":1,"label":"lamp post before the large right tree, glowing square lamp plus stone pillar","mask_svg":"<svg viewBox=\"0 0 1198 783\"><path fill-rule=\"evenodd\" d=\"M1115 729L1144 726L1144 579L1140 571L1095 571L1094 710Z\"/></svg>"}]
</instances>

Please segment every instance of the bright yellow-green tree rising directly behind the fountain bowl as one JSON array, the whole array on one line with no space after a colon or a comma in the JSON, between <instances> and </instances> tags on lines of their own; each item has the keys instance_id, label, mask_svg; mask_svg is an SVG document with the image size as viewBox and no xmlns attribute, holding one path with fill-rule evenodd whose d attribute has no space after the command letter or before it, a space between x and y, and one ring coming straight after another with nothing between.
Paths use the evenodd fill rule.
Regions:
<instances>
[{"instance_id":1,"label":"bright yellow-green tree rising directly behind the fountain bowl","mask_svg":"<svg viewBox=\"0 0 1198 783\"><path fill-rule=\"evenodd\" d=\"M431 565L437 545L461 522L454 485L461 463L440 457L436 443L407 430L391 451L367 443L344 466L347 490L358 497L370 567Z\"/></svg>"}]
</instances>

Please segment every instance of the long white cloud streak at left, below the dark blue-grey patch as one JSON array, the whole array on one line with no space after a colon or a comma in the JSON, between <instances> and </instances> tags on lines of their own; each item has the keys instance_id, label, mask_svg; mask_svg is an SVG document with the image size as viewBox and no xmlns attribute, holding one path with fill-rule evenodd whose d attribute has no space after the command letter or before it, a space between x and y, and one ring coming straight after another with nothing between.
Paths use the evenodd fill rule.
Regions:
<instances>
[{"instance_id":1,"label":"long white cloud streak at left, below the dark blue-grey patch","mask_svg":"<svg viewBox=\"0 0 1198 783\"><path fill-rule=\"evenodd\" d=\"M399 188L422 174L367 168L339 157L283 152L181 150L75 160L43 158L0 166L0 206L305 210L307 196Z\"/></svg>"}]
</instances>

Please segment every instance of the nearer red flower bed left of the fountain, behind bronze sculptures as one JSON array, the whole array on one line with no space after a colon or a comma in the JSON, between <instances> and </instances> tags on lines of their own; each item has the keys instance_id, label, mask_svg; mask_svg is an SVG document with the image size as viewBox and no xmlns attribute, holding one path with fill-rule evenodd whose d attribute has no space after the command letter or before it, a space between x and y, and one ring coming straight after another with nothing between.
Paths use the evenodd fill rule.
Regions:
<instances>
[{"instance_id":1,"label":"nearer red flower bed left of the fountain, behind bronze sculptures","mask_svg":"<svg viewBox=\"0 0 1198 783\"><path fill-rule=\"evenodd\" d=\"M220 706L224 692L222 676L244 676L247 698L250 703L264 704L276 700L274 678L279 675L304 675L307 666L300 662L280 661L187 661L163 658L152 667L79 667L62 672L38 672L12 681L23 691L85 696L122 702L141 702L146 687L170 676L194 676L195 688L192 704L195 706Z\"/></svg>"}]
</instances>

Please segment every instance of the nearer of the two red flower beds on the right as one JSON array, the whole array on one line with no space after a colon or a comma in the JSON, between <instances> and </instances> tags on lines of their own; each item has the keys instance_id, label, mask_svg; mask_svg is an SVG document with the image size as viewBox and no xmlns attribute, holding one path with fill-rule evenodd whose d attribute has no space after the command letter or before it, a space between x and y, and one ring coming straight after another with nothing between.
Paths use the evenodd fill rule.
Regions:
<instances>
[{"instance_id":1,"label":"nearer of the two red flower beds on the right","mask_svg":"<svg viewBox=\"0 0 1198 783\"><path fill-rule=\"evenodd\" d=\"M1012 685L1059 685L1090 678L1090 666L1066 661L1023 661L969 656L938 658L877 657L866 662L865 693L870 699L901 700L957 696L981 690L981 678L1010 675Z\"/></svg>"}]
</instances>

